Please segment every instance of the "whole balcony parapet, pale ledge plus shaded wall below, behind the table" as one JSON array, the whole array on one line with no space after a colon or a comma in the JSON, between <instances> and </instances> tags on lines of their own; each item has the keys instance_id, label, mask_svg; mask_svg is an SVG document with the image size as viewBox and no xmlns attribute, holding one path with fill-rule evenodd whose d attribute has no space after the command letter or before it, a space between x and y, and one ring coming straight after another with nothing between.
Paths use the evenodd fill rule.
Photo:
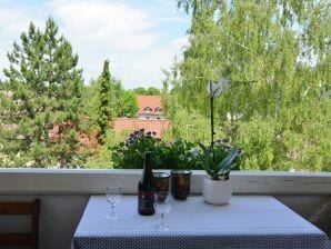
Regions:
<instances>
[{"instance_id":1,"label":"whole balcony parapet, pale ledge plus shaded wall below, behind the table","mask_svg":"<svg viewBox=\"0 0 331 249\"><path fill-rule=\"evenodd\" d=\"M40 198L40 248L68 249L89 197L104 193L109 182L136 193L140 176L141 170L0 169L0 201ZM201 193L204 176L193 171L192 193ZM331 173L238 171L231 180L234 195L272 195L305 218L331 195ZM6 228L0 217L0 231Z\"/></svg>"}]
</instances>

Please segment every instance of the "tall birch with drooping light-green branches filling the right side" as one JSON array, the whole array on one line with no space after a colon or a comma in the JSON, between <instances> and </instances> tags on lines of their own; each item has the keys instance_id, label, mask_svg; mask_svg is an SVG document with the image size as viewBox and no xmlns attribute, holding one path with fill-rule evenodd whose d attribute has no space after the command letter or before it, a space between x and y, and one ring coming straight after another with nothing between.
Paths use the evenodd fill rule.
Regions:
<instances>
[{"instance_id":1,"label":"tall birch with drooping light-green branches filling the right side","mask_svg":"<svg viewBox=\"0 0 331 249\"><path fill-rule=\"evenodd\" d=\"M330 171L331 6L319 0L178 4L192 23L183 60L165 72L165 91L173 87L163 97L167 113L175 117L175 108L208 120L205 84L225 77L230 83L214 104L215 126L245 151L242 169ZM174 121L171 129L185 136L184 122ZM205 126L198 130L208 132Z\"/></svg>"}]
</instances>

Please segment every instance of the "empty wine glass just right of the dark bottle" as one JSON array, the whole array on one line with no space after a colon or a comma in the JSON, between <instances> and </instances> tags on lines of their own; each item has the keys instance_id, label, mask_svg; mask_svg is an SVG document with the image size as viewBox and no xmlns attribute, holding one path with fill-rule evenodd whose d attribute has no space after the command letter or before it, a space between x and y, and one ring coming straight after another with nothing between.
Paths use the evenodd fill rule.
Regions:
<instances>
[{"instance_id":1,"label":"empty wine glass just right of the dark bottle","mask_svg":"<svg viewBox=\"0 0 331 249\"><path fill-rule=\"evenodd\" d=\"M171 210L170 195L167 191L158 191L154 195L154 209L157 213L161 215L161 221L156 227L159 231L168 231L169 226L164 223L164 215Z\"/></svg>"}]
</instances>

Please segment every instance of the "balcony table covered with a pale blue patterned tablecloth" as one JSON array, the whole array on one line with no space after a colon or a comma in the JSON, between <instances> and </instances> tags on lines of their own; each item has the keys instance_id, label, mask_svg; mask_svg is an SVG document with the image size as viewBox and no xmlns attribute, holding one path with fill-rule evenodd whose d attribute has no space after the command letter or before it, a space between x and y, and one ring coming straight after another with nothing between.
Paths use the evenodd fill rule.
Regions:
<instances>
[{"instance_id":1,"label":"balcony table covered with a pale blue patterned tablecloth","mask_svg":"<svg viewBox=\"0 0 331 249\"><path fill-rule=\"evenodd\" d=\"M233 196L227 206L201 196L172 201L169 231L156 231L160 216L137 211L137 196L123 196L120 218L107 220L104 196L92 196L72 238L72 249L328 249L328 237L270 196Z\"/></svg>"}]
</instances>

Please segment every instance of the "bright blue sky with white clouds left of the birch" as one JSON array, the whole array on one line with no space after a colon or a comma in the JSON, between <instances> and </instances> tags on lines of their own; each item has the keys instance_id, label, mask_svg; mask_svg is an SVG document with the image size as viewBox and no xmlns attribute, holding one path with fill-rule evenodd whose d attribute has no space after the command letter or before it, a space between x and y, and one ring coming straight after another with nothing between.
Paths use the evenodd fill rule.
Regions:
<instances>
[{"instance_id":1,"label":"bright blue sky with white clouds left of the birch","mask_svg":"<svg viewBox=\"0 0 331 249\"><path fill-rule=\"evenodd\" d=\"M0 79L7 53L32 21L40 29L51 17L79 56L86 83L106 59L126 89L161 88L162 69L181 58L190 17L174 0L0 0Z\"/></svg>"}]
</instances>

